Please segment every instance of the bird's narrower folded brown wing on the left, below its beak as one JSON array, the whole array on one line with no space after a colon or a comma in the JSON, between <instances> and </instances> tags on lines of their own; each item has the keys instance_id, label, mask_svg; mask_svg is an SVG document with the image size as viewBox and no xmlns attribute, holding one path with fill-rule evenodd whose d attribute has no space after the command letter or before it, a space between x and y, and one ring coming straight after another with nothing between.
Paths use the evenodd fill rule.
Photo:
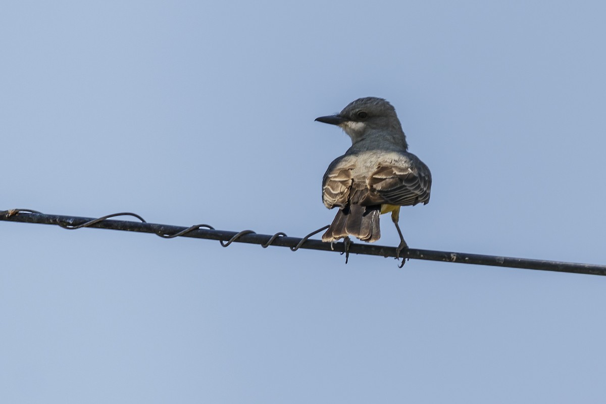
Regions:
<instances>
[{"instance_id":1,"label":"bird's narrower folded brown wing on the left, below its beak","mask_svg":"<svg viewBox=\"0 0 606 404\"><path fill-rule=\"evenodd\" d=\"M355 159L348 156L338 157L328 166L322 180L322 202L328 209L347 204L355 168Z\"/></svg>"}]
</instances>

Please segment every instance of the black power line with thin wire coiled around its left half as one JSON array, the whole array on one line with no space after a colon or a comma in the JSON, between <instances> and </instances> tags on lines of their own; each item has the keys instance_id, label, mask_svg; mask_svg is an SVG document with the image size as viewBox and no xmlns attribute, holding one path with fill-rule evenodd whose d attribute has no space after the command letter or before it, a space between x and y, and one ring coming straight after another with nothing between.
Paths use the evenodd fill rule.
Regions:
<instances>
[{"instance_id":1,"label":"black power line with thin wire coiled around its left half","mask_svg":"<svg viewBox=\"0 0 606 404\"><path fill-rule=\"evenodd\" d=\"M141 220L141 222L130 222L126 220L108 220L110 217L115 216L133 216ZM61 216L55 214L43 214L38 211L27 209L13 209L7 211L0 211L0 220L5 220L8 222L58 225L62 228L66 228L69 230L75 230L84 227L93 227L104 228L109 230L152 233L156 234L156 236L161 236L164 238L194 237L198 239L219 240L223 247L227 247L233 242L238 242L260 244L262 247L268 247L269 245L275 245L279 247L290 247L290 249L293 251L296 251L299 248L305 248L310 250L335 251L341 254L345 252L344 250L346 247L346 243L344 242L338 242L331 245L330 243L325 243L321 240L309 239L310 236L319 233L319 231L324 230L326 227L316 230L303 238L298 238L288 237L284 233L276 233L273 235L269 235L257 234L252 230L244 230L239 232L216 230L210 225L205 224L195 225L191 227L153 224L145 222L145 220L141 216L135 213L115 213L103 217L98 217L95 219L92 217L75 217ZM350 243L348 246L348 253L396 257L396 248L375 244ZM416 248L403 250L400 253L400 256L404 257L405 259L458 262L475 265L491 265L494 267L524 268L528 270L557 271L576 274L591 274L602 276L606 275L606 265L595 265L589 263L573 263L526 258L488 256L481 254L451 253L448 251L418 250Z\"/></svg>"}]
</instances>

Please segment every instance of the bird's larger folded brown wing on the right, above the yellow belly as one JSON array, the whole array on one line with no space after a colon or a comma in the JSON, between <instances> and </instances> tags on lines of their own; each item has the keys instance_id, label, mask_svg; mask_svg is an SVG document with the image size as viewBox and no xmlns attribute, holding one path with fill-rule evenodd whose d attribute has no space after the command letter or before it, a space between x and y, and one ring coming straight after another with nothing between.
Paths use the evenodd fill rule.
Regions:
<instances>
[{"instance_id":1,"label":"bird's larger folded brown wing on the right, above the yellow belly","mask_svg":"<svg viewBox=\"0 0 606 404\"><path fill-rule=\"evenodd\" d=\"M431 192L431 172L414 154L398 153L379 159L376 170L366 180L367 204L427 204Z\"/></svg>"}]
</instances>

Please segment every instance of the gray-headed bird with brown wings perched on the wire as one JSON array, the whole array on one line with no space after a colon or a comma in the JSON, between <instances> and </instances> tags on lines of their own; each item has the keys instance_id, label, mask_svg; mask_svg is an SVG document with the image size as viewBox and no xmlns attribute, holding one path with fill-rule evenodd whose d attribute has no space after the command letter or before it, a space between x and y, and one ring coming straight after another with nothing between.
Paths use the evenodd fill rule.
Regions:
<instances>
[{"instance_id":1,"label":"gray-headed bird with brown wings perched on the wire","mask_svg":"<svg viewBox=\"0 0 606 404\"><path fill-rule=\"evenodd\" d=\"M429 202L431 173L408 153L395 108L382 98L359 98L316 121L338 125L351 137L351 147L328 166L322 180L324 205L339 208L322 241L348 236L376 241L381 237L379 215L391 212L401 240L399 256L408 248L398 225L400 207Z\"/></svg>"}]
</instances>

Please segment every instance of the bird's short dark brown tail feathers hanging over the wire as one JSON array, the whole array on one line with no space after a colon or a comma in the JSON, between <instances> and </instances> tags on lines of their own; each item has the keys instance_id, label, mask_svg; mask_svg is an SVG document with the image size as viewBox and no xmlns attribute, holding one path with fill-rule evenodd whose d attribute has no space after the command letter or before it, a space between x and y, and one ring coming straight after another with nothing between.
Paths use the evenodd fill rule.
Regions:
<instances>
[{"instance_id":1,"label":"bird's short dark brown tail feathers hanging over the wire","mask_svg":"<svg viewBox=\"0 0 606 404\"><path fill-rule=\"evenodd\" d=\"M376 241L381 237L380 214L381 205L347 205L339 209L335 220L322 236L322 241L333 242L347 236L355 236L366 242Z\"/></svg>"}]
</instances>

